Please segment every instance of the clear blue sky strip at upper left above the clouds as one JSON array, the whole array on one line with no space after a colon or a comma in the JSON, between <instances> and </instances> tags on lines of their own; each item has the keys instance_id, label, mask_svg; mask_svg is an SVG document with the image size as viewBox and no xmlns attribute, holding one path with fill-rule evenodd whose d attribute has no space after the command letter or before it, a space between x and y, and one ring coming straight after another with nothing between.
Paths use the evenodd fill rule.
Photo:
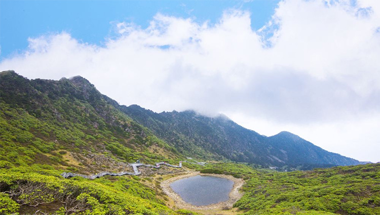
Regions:
<instances>
[{"instance_id":1,"label":"clear blue sky strip at upper left above the clouds","mask_svg":"<svg viewBox=\"0 0 380 215\"><path fill-rule=\"evenodd\" d=\"M215 23L224 10L240 9L252 16L252 29L271 19L278 0L243 1L0 1L1 59L28 46L28 37L66 31L90 44L113 36L113 22L133 22L142 28L157 13L197 22Z\"/></svg>"}]
</instances>

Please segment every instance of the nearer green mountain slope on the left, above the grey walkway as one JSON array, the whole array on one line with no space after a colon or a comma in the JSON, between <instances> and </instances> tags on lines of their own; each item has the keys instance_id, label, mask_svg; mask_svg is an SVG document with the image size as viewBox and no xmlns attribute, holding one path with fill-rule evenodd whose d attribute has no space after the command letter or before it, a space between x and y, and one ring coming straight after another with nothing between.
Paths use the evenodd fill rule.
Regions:
<instances>
[{"instance_id":1,"label":"nearer green mountain slope on the left, above the grey walkway","mask_svg":"<svg viewBox=\"0 0 380 215\"><path fill-rule=\"evenodd\" d=\"M0 78L0 160L88 174L180 156L85 78L28 80L13 71Z\"/></svg>"}]
</instances>

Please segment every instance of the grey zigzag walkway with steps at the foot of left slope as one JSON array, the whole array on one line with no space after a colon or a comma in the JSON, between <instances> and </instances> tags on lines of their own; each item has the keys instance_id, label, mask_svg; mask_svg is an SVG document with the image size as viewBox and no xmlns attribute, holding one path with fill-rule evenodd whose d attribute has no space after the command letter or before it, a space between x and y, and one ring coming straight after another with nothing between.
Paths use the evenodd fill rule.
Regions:
<instances>
[{"instance_id":1,"label":"grey zigzag walkway with steps at the foot of left slope","mask_svg":"<svg viewBox=\"0 0 380 215\"><path fill-rule=\"evenodd\" d=\"M77 174L77 173L62 173L61 176L63 178L71 178L71 177L75 177L75 176L79 176L79 177L82 177L82 178L86 178L86 179L96 179L96 178L99 178L99 177L102 177L102 176L124 176L124 175L132 175L132 176L138 176L141 174L141 171L138 170L137 167L139 166L147 166L147 167L151 167L151 168L160 168L160 165L167 165L167 166L171 166L171 167L174 167L174 168L181 168L182 167L182 162L187 162L187 163L192 163L192 164L198 164L198 165L202 165L204 166L204 162L189 162L187 160L184 160L184 161L179 161L179 165L176 166L176 165L171 165L170 163L167 163L166 161L162 161L162 162L158 162L156 163L156 165L151 165L151 164L143 164L143 163L129 163L130 166L132 166L133 168L133 173L129 172L129 171L121 171L120 173L111 173L110 171L102 171L101 173L98 173L98 174L95 174L95 175L90 175L90 176L87 176L87 175L83 175L83 174Z\"/></svg>"}]
</instances>

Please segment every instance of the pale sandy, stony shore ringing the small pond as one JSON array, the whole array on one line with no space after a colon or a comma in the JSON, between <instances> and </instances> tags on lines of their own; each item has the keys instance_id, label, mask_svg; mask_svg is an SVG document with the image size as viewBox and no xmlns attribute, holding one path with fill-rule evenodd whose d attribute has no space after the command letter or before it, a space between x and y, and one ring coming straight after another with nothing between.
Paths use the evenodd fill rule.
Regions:
<instances>
[{"instance_id":1,"label":"pale sandy, stony shore ringing the small pond","mask_svg":"<svg viewBox=\"0 0 380 215\"><path fill-rule=\"evenodd\" d=\"M193 177L193 176L198 176L198 175L225 178L225 179L229 179L229 180L233 181L234 185L233 185L233 188L230 192L230 199L227 201L216 203L216 204L209 204L209 205L205 205L205 206L196 206L196 205L192 205L192 204L189 204L189 203L186 203L185 201L183 201L183 199L176 192L174 192L172 190L172 188L170 187L170 183L172 183L176 180L189 178L189 177ZM166 193L166 195L168 195L171 199L173 199L176 207L178 207L178 208L193 209L193 210L194 209L195 210L199 210L199 209L209 210L209 209L231 208L233 206L233 204L243 196L239 192L239 189L243 186L243 184L244 184L243 179L237 179L237 178L234 178L233 176L217 175L217 174L202 174L199 172L195 172L195 173L193 172L193 173L189 173L186 175L177 176L177 177L173 177L173 178L170 178L168 180L165 180L161 183L161 187L162 187L163 191Z\"/></svg>"}]
</instances>

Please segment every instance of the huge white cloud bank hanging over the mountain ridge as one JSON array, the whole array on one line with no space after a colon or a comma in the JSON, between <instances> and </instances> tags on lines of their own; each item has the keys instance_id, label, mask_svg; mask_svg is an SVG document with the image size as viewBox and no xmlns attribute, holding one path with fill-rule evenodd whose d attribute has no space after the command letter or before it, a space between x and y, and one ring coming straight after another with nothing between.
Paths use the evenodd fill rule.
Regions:
<instances>
[{"instance_id":1,"label":"huge white cloud bank hanging over the mountain ridge","mask_svg":"<svg viewBox=\"0 0 380 215\"><path fill-rule=\"evenodd\" d=\"M291 128L354 158L380 151L380 137L372 137L380 130L379 1L289 0L257 32L250 22L238 10L216 24L157 14L146 29L115 23L119 36L104 47L65 32L30 38L23 54L0 67L28 78L82 75L121 104L158 112L224 112L260 132L260 124L237 117L244 116L267 124L265 134ZM354 134L372 144L354 149ZM339 147L328 147L332 138Z\"/></svg>"}]
</instances>

